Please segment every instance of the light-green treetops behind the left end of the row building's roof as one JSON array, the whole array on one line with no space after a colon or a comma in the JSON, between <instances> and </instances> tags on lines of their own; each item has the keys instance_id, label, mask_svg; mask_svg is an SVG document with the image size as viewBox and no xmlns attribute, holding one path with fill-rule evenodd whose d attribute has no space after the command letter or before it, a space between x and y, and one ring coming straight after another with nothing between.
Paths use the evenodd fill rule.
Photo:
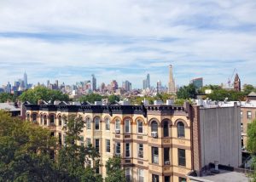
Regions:
<instances>
[{"instance_id":1,"label":"light-green treetops behind the left end of the row building's roof","mask_svg":"<svg viewBox=\"0 0 256 182\"><path fill-rule=\"evenodd\" d=\"M55 100L68 101L67 94L62 94L60 90L52 90L42 86L26 90L19 98L21 101L29 101L32 104L37 104L38 100L50 100L51 103Z\"/></svg>"}]
</instances>

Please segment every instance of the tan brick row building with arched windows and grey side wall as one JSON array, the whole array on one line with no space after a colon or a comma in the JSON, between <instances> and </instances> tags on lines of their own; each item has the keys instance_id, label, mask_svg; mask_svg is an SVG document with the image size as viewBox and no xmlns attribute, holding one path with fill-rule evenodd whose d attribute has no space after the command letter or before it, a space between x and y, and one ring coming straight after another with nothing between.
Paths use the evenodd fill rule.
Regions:
<instances>
[{"instance_id":1,"label":"tan brick row building with arched windows and grey side wall","mask_svg":"<svg viewBox=\"0 0 256 182\"><path fill-rule=\"evenodd\" d=\"M218 105L26 105L26 118L47 127L61 144L64 116L84 117L80 145L92 144L106 176L109 157L121 156L127 181L186 181L210 162L241 164L240 108ZM230 155L232 154L232 155ZM94 165L94 162L91 162Z\"/></svg>"}]
</instances>

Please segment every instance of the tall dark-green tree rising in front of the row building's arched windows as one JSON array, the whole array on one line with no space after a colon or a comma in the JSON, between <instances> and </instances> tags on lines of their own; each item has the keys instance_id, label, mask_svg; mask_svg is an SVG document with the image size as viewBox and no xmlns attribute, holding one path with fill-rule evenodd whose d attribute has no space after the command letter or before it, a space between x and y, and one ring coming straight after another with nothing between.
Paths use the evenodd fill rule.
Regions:
<instances>
[{"instance_id":1,"label":"tall dark-green tree rising in front of the row building's arched windows","mask_svg":"<svg viewBox=\"0 0 256 182\"><path fill-rule=\"evenodd\" d=\"M58 169L65 171L73 181L101 182L102 176L96 173L96 168L90 168L90 159L96 162L99 153L91 145L78 145L80 134L84 128L82 117L75 115L64 118L66 126L65 145L61 147L58 155ZM85 168L86 167L86 168Z\"/></svg>"}]
</instances>

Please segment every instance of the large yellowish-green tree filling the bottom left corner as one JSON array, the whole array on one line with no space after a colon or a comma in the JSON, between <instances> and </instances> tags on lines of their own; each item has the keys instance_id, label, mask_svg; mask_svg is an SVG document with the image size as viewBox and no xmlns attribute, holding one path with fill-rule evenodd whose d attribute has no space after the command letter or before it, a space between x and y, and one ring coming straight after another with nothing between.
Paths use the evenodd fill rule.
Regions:
<instances>
[{"instance_id":1,"label":"large yellowish-green tree filling the bottom left corner","mask_svg":"<svg viewBox=\"0 0 256 182\"><path fill-rule=\"evenodd\" d=\"M49 157L55 149L55 138L47 129L10 117L4 111L0 111L0 128L0 181L61 179Z\"/></svg>"}]
</instances>

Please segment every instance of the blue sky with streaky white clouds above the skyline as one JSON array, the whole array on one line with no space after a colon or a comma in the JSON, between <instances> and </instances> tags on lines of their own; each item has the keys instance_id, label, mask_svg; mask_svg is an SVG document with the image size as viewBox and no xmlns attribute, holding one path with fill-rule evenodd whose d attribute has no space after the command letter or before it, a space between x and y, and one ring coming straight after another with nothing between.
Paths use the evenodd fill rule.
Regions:
<instances>
[{"instance_id":1,"label":"blue sky with streaky white clouds above the skyline","mask_svg":"<svg viewBox=\"0 0 256 182\"><path fill-rule=\"evenodd\" d=\"M0 85L195 77L256 85L255 0L0 0Z\"/></svg>"}]
</instances>

